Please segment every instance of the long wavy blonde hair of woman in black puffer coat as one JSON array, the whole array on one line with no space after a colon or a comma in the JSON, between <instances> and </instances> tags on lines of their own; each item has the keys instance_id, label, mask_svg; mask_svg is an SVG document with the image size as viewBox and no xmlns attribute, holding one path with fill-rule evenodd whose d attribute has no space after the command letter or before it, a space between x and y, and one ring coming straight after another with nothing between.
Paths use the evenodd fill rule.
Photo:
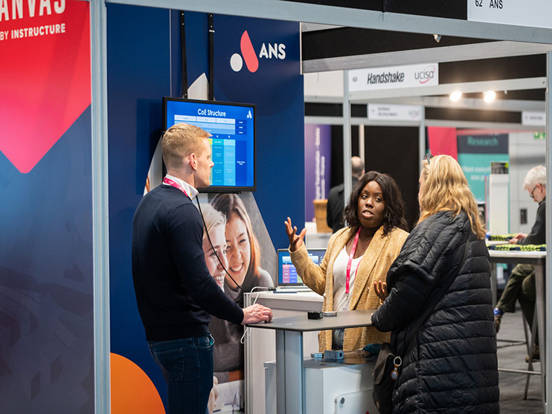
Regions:
<instances>
[{"instance_id":1,"label":"long wavy blonde hair of woman in black puffer coat","mask_svg":"<svg viewBox=\"0 0 552 414\"><path fill-rule=\"evenodd\" d=\"M471 230L479 239L485 237L485 228L477 203L468 186L468 180L460 164L449 155L437 155L430 161L424 159L423 185L420 188L420 219L424 221L440 211L452 211L457 215L464 210L470 220Z\"/></svg>"}]
</instances>

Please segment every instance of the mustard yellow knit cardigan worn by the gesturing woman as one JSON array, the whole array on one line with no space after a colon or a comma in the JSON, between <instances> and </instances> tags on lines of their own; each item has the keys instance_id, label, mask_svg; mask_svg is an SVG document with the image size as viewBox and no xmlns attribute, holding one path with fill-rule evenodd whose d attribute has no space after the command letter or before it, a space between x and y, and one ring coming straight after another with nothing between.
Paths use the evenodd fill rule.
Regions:
<instances>
[{"instance_id":1,"label":"mustard yellow knit cardigan worn by the gesturing woman","mask_svg":"<svg viewBox=\"0 0 552 414\"><path fill-rule=\"evenodd\" d=\"M309 288L324 296L324 311L333 311L333 264L352 235L354 230L348 227L332 235L320 266L309 259L304 244L295 252L290 252L291 262L297 268L297 275ZM382 304L375 294L373 284L378 280L385 282L387 271L399 255L406 237L408 233L400 228L393 228L386 236L383 226L377 230L358 264L349 311L375 309ZM366 344L389 342L390 337L391 333L382 333L373 326L346 328L343 350L351 351L363 348ZM321 352L331 350L332 331L321 331L318 334L318 343Z\"/></svg>"}]
</instances>

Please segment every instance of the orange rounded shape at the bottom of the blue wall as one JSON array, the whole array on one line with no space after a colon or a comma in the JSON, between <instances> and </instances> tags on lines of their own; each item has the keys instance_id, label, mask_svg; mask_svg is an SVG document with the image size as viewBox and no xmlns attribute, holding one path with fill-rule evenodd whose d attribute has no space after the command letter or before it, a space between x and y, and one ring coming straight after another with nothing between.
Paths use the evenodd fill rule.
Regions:
<instances>
[{"instance_id":1,"label":"orange rounded shape at the bottom of the blue wall","mask_svg":"<svg viewBox=\"0 0 552 414\"><path fill-rule=\"evenodd\" d=\"M165 414L150 377L130 359L111 353L111 413Z\"/></svg>"}]
</instances>

